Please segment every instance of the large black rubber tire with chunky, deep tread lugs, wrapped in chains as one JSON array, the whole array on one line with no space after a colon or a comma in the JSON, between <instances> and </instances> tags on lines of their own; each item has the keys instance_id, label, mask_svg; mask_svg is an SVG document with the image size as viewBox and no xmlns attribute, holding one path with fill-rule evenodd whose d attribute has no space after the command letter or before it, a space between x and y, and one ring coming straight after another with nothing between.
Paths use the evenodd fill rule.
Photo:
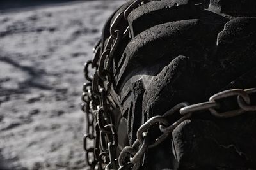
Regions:
<instances>
[{"instance_id":1,"label":"large black rubber tire with chunky, deep tread lugs, wrapped in chains","mask_svg":"<svg viewBox=\"0 0 256 170\"><path fill-rule=\"evenodd\" d=\"M122 114L121 147L132 145L148 118L175 104L207 101L220 90L255 87L255 9L254 0L161 0L129 14L130 38L115 55L112 92ZM254 129L253 113L220 120L205 111L148 149L142 168L256 169ZM150 134L154 138L159 131Z\"/></svg>"}]
</instances>

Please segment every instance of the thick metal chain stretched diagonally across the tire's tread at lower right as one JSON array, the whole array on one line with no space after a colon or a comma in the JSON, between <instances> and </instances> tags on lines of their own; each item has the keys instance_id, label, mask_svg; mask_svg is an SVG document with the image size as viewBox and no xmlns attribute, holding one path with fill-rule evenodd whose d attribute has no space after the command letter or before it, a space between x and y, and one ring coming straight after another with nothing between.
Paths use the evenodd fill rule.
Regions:
<instances>
[{"instance_id":1,"label":"thick metal chain stretched diagonally across the tire's tread at lower right","mask_svg":"<svg viewBox=\"0 0 256 170\"><path fill-rule=\"evenodd\" d=\"M250 95L256 93L256 88L252 89L231 89L231 90L225 90L223 92L219 92L217 94L214 94L210 97L209 101L203 102L203 103L197 103L197 104L189 104L187 102L182 102L171 108L170 110L166 111L163 115L154 116L147 120L137 131L137 139L134 142L132 146L126 146L122 152L120 153L120 156L118 158L119 160L119 166L120 169L125 166L132 167L133 169L137 169L137 164L141 163L141 159L143 158L143 155L147 151L147 148L152 148L159 143L163 142L164 139L168 138L169 134L172 133L172 131L184 120L187 120L190 118L193 113L209 110L210 113L214 117L219 118L229 118L229 117L236 117L237 115L241 115L242 113L245 113L246 111L256 111L256 105L251 105L251 98ZM216 109L220 108L221 103L220 100L229 100L228 97L235 96L237 98L237 105L239 106L238 110L232 110L225 111L223 113L219 113L216 111ZM173 124L169 124L168 117L171 115L179 113L182 115L179 120L175 121ZM156 124L159 124L159 130L162 132L162 134L156 138L156 139L148 139L148 133L150 132L150 128L155 126ZM135 146L141 146L140 149L136 149ZM127 155L130 156L130 162L125 162L124 160L127 158Z\"/></svg>"}]
</instances>

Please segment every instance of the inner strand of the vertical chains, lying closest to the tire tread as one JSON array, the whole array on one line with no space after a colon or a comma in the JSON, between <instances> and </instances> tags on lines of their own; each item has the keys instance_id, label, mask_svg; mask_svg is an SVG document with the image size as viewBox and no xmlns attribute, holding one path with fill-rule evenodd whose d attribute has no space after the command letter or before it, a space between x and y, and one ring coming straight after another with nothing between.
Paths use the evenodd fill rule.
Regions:
<instances>
[{"instance_id":1,"label":"inner strand of the vertical chains, lying closest to the tire tread","mask_svg":"<svg viewBox=\"0 0 256 170\"><path fill-rule=\"evenodd\" d=\"M136 2L137 6L140 4L141 0L134 1ZM135 8L136 6L132 3L127 9L129 9L129 13L132 11L131 9ZM127 10L126 14L128 13ZM107 104L106 96L109 94L111 89L111 78L112 73L111 69L113 67L113 58L114 53L122 38L127 36L129 28L120 30L118 29L118 25L122 19L124 19L124 11L118 13L118 15L113 20L113 23L110 26L110 37L107 40L107 43L104 47L104 51L102 52L100 59L99 59L99 66L97 71L95 72L92 84L93 84L93 92L100 96L100 108L97 111L97 122L100 129L100 145L101 150L104 152L108 152L108 164L106 165L105 169L120 169L118 162L116 159L116 148L118 146L118 138L116 133L116 127L113 125L113 120L111 117L113 115L108 115L109 106ZM100 84L100 81L107 82L107 87L104 86L103 83ZM106 89L106 90L105 90ZM111 131L108 131L107 127L111 127ZM112 135L112 139L111 138ZM108 143L108 147L106 144ZM105 145L105 146L104 146ZM137 167L140 167L138 165ZM138 169L138 168L137 168Z\"/></svg>"}]
</instances>

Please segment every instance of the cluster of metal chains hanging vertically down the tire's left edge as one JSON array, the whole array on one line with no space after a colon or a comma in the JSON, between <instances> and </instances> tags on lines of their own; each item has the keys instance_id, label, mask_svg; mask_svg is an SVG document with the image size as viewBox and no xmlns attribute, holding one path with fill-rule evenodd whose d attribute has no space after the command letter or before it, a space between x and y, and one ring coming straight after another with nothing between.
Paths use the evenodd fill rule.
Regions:
<instances>
[{"instance_id":1,"label":"cluster of metal chains hanging vertically down the tire's left edge","mask_svg":"<svg viewBox=\"0 0 256 170\"><path fill-rule=\"evenodd\" d=\"M119 23L124 18L127 19L127 16L134 8L143 4L141 2L143 1L136 0L125 11L118 13L110 25L110 36L107 39L106 45L103 42L105 40L104 32L106 27L104 28L103 40L100 39L93 48L93 60L88 61L84 65L84 78L90 83L85 83L83 86L81 109L86 113L86 134L83 138L83 146L86 152L86 162L91 169L120 169L118 159L116 158L118 137L113 114L111 113L116 104L108 96L112 83L111 69L113 69L113 55L118 45L120 45L120 41L129 32L129 27L124 30L118 29ZM108 22L110 23L110 20ZM97 69L92 78L89 76L89 66ZM93 143L93 146L87 148L89 143ZM141 159L141 155L145 153L147 148L146 144L141 144L140 149L139 146L140 143L137 141L134 149L139 150L139 152L131 160L133 164L138 159ZM138 169L140 167L140 164L136 164L136 166L129 165L121 169L129 167L136 167Z\"/></svg>"}]
</instances>

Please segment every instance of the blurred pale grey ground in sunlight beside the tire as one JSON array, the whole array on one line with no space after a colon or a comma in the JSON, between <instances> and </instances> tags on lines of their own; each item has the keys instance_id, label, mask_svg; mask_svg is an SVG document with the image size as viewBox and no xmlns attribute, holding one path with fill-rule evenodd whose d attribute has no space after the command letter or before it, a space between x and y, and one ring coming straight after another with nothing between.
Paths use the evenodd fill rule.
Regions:
<instances>
[{"instance_id":1,"label":"blurred pale grey ground in sunlight beside the tire","mask_svg":"<svg viewBox=\"0 0 256 170\"><path fill-rule=\"evenodd\" d=\"M84 169L83 64L122 3L0 15L0 159L11 169Z\"/></svg>"}]
</instances>

